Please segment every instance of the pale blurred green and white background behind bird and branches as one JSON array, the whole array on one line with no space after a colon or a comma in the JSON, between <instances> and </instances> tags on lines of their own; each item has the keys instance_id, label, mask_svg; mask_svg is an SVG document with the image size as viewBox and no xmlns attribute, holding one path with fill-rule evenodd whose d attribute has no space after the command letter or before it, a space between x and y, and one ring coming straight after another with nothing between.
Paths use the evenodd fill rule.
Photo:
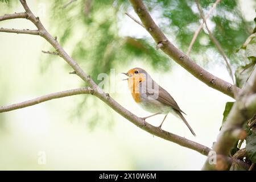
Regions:
<instances>
[{"instance_id":1,"label":"pale blurred green and white background behind bird and branches","mask_svg":"<svg viewBox=\"0 0 256 182\"><path fill-rule=\"evenodd\" d=\"M127 1L28 1L32 12L96 82L99 73L115 75L110 95L140 117L149 113L135 104L119 73L142 67L172 94L197 134L168 115L163 129L208 147L216 141L222 113L232 98L209 88L155 49ZM144 1L175 46L187 52L200 25L193 1ZM200 1L207 12L214 1ZM67 5L67 6L66 6ZM233 70L245 65L236 53L254 28L255 1L221 1L208 20ZM0 15L23 12L18 1L0 2ZM0 22L5 28L35 29L26 19ZM71 68L39 36L0 33L0 106L84 86ZM202 30L191 57L210 73L232 82L224 60ZM105 88L110 92L109 88ZM163 115L147 121L158 126ZM46 163L40 163L42 154ZM0 169L199 170L206 157L135 127L97 98L79 95L0 114Z\"/></svg>"}]
</instances>

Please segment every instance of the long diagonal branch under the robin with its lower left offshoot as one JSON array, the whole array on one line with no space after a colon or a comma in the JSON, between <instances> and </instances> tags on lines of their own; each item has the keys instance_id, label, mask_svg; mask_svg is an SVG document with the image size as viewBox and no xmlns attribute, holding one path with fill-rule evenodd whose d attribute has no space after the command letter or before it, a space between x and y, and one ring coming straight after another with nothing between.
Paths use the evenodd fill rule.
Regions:
<instances>
[{"instance_id":1,"label":"long diagonal branch under the robin with its lower left offshoot","mask_svg":"<svg viewBox=\"0 0 256 182\"><path fill-rule=\"evenodd\" d=\"M84 71L79 67L79 65L64 51L64 49L60 46L60 44L49 34L49 32L44 28L43 24L40 22L39 18L36 18L34 14L32 14L31 10L28 8L26 1L20 0L20 3L26 10L26 13L28 14L27 19L31 20L32 23L35 24L36 27L38 27L39 30L39 35L42 36L44 39L49 42L53 48L56 49L56 51L59 53L59 55L74 69L75 73L77 76L82 78L85 82L88 83L90 86L91 90L93 90L94 96L100 98L100 100L104 101L107 105L112 107L113 110L117 111L120 115L128 119L130 122L134 123L134 125L140 127L141 129L147 131L148 133L155 135L157 137L169 140L171 142L175 142L179 144L180 146L184 146L187 148L191 148L192 150L195 150L197 152L200 152L200 154L207 155L208 152L210 151L210 148L203 146L199 143L193 142L191 140L185 139L184 137L179 137L178 135L169 133L164 130L159 130L158 127L152 126L149 123L146 123L144 125L143 119L137 117L133 113L131 113L129 110L126 110L124 107L118 104L118 102L114 101L112 97L109 96L108 93L104 93L101 88L97 86L97 84L90 78L90 76L87 76ZM70 91L70 90L69 90ZM81 90L77 90L77 94L80 94ZM83 92L87 93L86 90ZM74 93L74 92L72 92ZM64 96L65 94L55 94L54 96L50 98L59 98L59 96ZM66 93L67 96L70 95L70 93ZM33 105L37 104L38 102L43 102L49 99L49 96L43 96L39 97L39 99L35 99L32 101L27 101L25 102L26 104L19 104L18 106L9 106L12 108L18 109L20 106L28 106L28 105ZM8 107L8 106L7 106ZM21 108L21 107L20 107ZM6 110L7 108L5 108ZM13 110L13 109L12 109ZM6 110L7 111L7 110ZM229 158L230 159L230 158Z\"/></svg>"}]
</instances>

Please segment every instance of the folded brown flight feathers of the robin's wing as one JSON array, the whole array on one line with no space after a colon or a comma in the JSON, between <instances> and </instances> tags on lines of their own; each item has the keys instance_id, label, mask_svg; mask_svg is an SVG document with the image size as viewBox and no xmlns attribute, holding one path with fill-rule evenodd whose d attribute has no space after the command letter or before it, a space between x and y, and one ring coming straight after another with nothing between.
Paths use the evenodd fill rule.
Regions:
<instances>
[{"instance_id":1,"label":"folded brown flight feathers of the robin's wing","mask_svg":"<svg viewBox=\"0 0 256 182\"><path fill-rule=\"evenodd\" d=\"M170 95L170 93L168 93L166 90L164 90L160 85L159 85L159 95L156 100L162 102L163 104L170 105L173 109L180 111L181 113L184 113L180 109L180 107L177 105L177 102Z\"/></svg>"}]
</instances>

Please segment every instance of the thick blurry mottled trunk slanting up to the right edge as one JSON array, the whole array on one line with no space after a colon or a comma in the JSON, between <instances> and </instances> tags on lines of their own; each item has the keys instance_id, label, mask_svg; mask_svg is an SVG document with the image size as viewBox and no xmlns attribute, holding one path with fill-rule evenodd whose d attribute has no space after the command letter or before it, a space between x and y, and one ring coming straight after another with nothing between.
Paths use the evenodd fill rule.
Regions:
<instances>
[{"instance_id":1,"label":"thick blurry mottled trunk slanting up to the right edge","mask_svg":"<svg viewBox=\"0 0 256 182\"><path fill-rule=\"evenodd\" d=\"M230 110L230 113L226 118L226 122L221 127L217 142L213 146L213 150L216 151L217 154L228 156L231 148L241 137L241 135L245 133L245 131L242 130L243 124L256 113L256 107L254 107L256 103L255 92L256 69L254 69L253 73L251 73L249 80L246 82L245 86L237 97L237 101ZM250 103L253 106L246 103ZM207 160L203 169L216 169L216 166L210 165Z\"/></svg>"}]
</instances>

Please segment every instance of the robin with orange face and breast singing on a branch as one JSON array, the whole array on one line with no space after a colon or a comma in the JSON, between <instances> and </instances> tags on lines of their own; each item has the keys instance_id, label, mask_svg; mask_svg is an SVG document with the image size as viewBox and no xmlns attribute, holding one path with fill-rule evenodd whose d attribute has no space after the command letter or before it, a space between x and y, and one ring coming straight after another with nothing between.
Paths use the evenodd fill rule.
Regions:
<instances>
[{"instance_id":1,"label":"robin with orange face and breast singing on a branch","mask_svg":"<svg viewBox=\"0 0 256 182\"><path fill-rule=\"evenodd\" d=\"M151 76L144 69L133 68L127 73L123 74L128 76L128 78L124 80L128 81L128 87L134 101L144 110L154 113L148 117L142 118L143 125L145 125L145 120L147 118L157 114L165 114L164 119L159 126L159 129L162 130L161 127L168 113L172 113L175 116L180 117L185 125L187 125L191 133L196 137L195 132L192 130L191 126L189 126L187 120L183 117L183 114L185 113L177 105L174 98L172 98L170 93L152 80Z\"/></svg>"}]
</instances>

